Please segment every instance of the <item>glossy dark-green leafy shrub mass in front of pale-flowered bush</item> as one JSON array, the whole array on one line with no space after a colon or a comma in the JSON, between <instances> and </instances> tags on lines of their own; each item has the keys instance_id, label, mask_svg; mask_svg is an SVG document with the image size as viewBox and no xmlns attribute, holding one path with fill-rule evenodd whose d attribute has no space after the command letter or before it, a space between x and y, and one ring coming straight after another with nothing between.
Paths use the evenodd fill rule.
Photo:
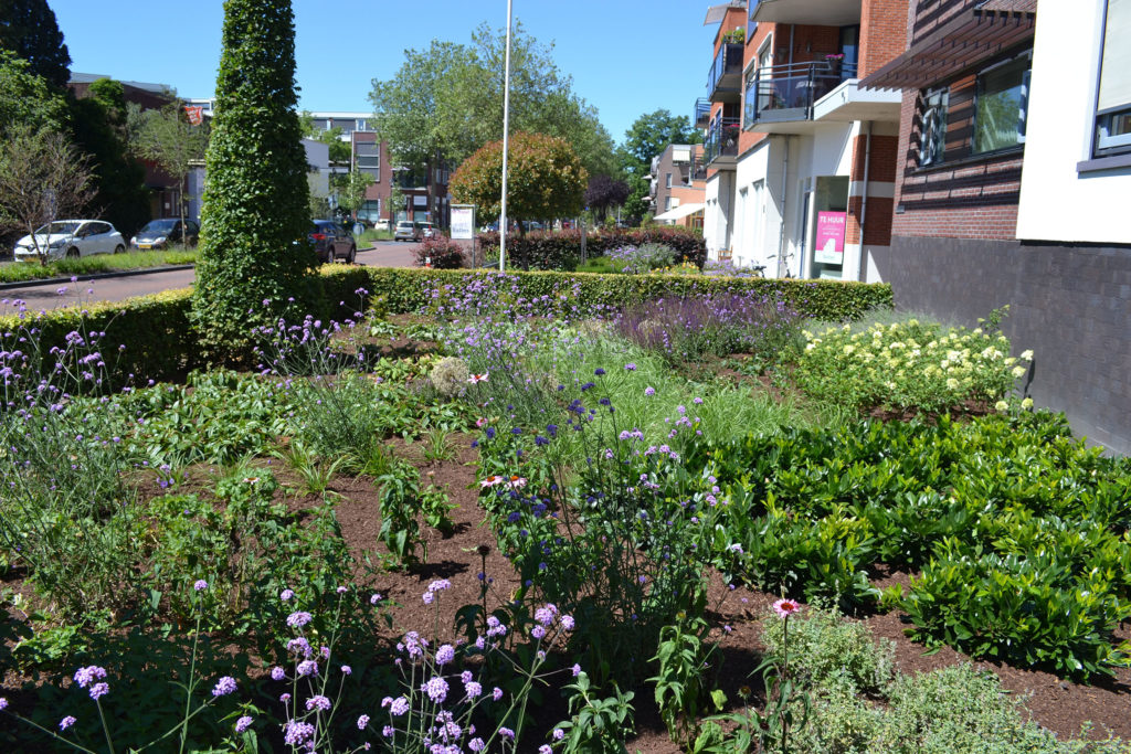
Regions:
<instances>
[{"instance_id":1,"label":"glossy dark-green leafy shrub mass in front of pale-flowered bush","mask_svg":"<svg viewBox=\"0 0 1131 754\"><path fill-rule=\"evenodd\" d=\"M1128 661L1112 632L1131 617L1129 461L1063 417L787 430L709 452L728 573L869 603L867 570L888 563L922 571L886 599L929 643L1078 676Z\"/></svg>"}]
</instances>

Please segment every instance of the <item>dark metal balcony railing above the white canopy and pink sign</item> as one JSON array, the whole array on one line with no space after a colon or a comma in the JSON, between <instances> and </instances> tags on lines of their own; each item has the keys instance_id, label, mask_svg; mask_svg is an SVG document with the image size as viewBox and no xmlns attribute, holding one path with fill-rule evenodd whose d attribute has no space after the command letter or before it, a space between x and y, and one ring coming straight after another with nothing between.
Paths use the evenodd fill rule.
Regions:
<instances>
[{"instance_id":1,"label":"dark metal balcony railing above the white canopy and pink sign","mask_svg":"<svg viewBox=\"0 0 1131 754\"><path fill-rule=\"evenodd\" d=\"M813 103L852 78L856 67L839 60L759 68L746 93L745 128L811 120Z\"/></svg>"}]
</instances>

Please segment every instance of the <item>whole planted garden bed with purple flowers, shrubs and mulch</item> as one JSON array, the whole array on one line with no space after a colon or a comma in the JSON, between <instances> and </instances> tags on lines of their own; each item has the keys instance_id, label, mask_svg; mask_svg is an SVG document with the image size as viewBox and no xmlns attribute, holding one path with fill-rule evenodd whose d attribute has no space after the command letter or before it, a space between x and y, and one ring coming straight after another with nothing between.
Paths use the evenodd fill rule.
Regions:
<instances>
[{"instance_id":1,"label":"whole planted garden bed with purple flowers, shrubs and mulch","mask_svg":"<svg viewBox=\"0 0 1131 754\"><path fill-rule=\"evenodd\" d=\"M1128 465L1083 449L1055 417L1009 397L1026 359L1009 356L996 333L913 322L856 340L804 336L788 307L722 296L569 322L547 319L537 301L476 293L433 301L440 318L375 318L333 333L313 319L283 328L260 355L262 375L198 373L187 385L44 407L36 421L59 444L40 443L46 432L9 434L20 448L10 458L26 456L40 469L10 476L24 486L5 499L9 515L25 517L8 521L26 532L20 548L0 551L9 615L0 696L9 712L58 729L74 711L79 719L66 735L98 746L95 710L71 677L76 667L105 666L115 735L152 740L183 714L169 681L191 678L189 650L202 638L196 673L207 685L198 700L215 711L198 718L192 742L243 751L254 735L279 751L290 718L351 746L379 743L380 725L360 734L355 718L318 717L313 691L305 711L271 711L282 690L300 687L288 662L297 667L302 656L283 645L297 632L314 649L327 645L329 666L348 658L352 674L333 704L343 716L377 718L382 696L413 693L398 685L392 660L404 659L405 632L420 631L433 641L426 656L435 650L442 666L437 647L450 643L468 673L507 690L503 704L535 693L519 751L608 749L622 737L630 751L684 751L688 729L707 736L710 751L735 751L731 737L757 720L780 738L776 721L801 709L800 697L784 696L784 677L820 716L792 730L813 747L805 751L834 751L828 737L849 730L870 731L852 735L870 736L872 747L909 745L904 726L946 701L916 701L913 691L933 684L974 700L969 714L982 722L940 712L922 722L930 735L951 735L947 725L996 735L976 728L984 722L1050 751L1046 734L1022 725L1027 712L1018 716L964 662L1029 695L1025 709L1064 742L1088 721L1096 723L1088 738L1131 738L1128 589L1113 565L1126 557ZM875 355L855 365L835 358L865 340ZM944 366L935 382L881 379L906 370L900 349L936 352L932 363L953 362L957 376ZM880 357L878 376L871 362ZM830 392L829 374L844 389ZM941 410L931 402L939 395ZM877 410L909 422L862 419ZM61 457L76 460L74 477L53 465ZM94 509L75 512L89 500ZM35 518L63 504L72 527ZM1087 547L1072 545L1076 531ZM1015 563L1051 557L1042 543L1056 543L1055 578ZM948 575L975 548L985 556L974 562L988 570ZM1055 575L1078 573L1080 563L1112 575L1083 586ZM996 579L1041 588L1052 605L1089 593L1099 601L1077 603L1089 623L1048 619L1038 631L1001 607L1022 588L1007 581L994 592ZM985 596L972 600L951 582ZM783 596L839 605L848 617L780 604L786 617L777 617L770 606ZM551 617L546 601L556 605ZM568 624L558 617L567 610ZM537 674L504 673L490 650L476 653L492 613L510 626L507 657L542 668L549 685L523 691L523 678ZM539 665L532 649L544 617L552 629ZM832 627L854 622L892 642L893 675L882 645ZM470 633L457 627L468 625ZM783 655L783 630L800 632L793 653ZM922 642L907 635L913 630ZM1027 636L1034 659L1020 661L1009 636ZM653 659L672 641L684 642L690 665ZM845 659L851 678L821 675L821 652L836 648L871 669ZM752 676L762 660L776 669ZM271 678L274 665L286 682ZM699 669L680 675L689 668ZM238 692L209 701L208 688L227 674ZM447 677L458 686L458 674ZM691 694L689 684L701 688ZM676 696L657 703L661 685ZM631 700L616 701L629 691ZM435 714L423 704L422 716ZM460 719L484 730L519 719L517 708L500 710L501 720L490 710L472 704ZM731 717L710 733L705 722L718 713ZM559 722L568 723L561 739L552 733ZM636 733L624 735L630 722ZM670 734L684 736L684 746ZM50 748L29 727L6 729L0 740ZM415 751L411 742L402 743Z\"/></svg>"}]
</instances>

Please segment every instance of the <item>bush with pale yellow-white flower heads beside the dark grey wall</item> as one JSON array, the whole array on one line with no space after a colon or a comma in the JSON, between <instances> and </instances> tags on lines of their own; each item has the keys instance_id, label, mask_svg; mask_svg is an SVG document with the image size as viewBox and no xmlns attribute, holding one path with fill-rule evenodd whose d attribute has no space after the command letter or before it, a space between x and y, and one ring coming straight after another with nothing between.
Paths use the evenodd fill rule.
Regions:
<instances>
[{"instance_id":1,"label":"bush with pale yellow-white flower heads beside the dark grey wall","mask_svg":"<svg viewBox=\"0 0 1131 754\"><path fill-rule=\"evenodd\" d=\"M992 406L1025 375L1033 352L1010 356L1009 339L982 328L943 328L918 320L805 332L793 373L811 398L865 411L922 413ZM1005 408L1009 408L1008 402Z\"/></svg>"}]
</instances>

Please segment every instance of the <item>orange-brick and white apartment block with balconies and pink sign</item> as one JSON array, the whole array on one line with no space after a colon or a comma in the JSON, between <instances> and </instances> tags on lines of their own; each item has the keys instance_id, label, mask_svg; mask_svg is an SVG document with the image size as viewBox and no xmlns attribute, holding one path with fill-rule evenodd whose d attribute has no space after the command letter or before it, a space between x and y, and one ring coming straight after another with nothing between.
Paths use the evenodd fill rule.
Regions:
<instances>
[{"instance_id":1,"label":"orange-brick and white apartment block with balconies and pink sign","mask_svg":"<svg viewBox=\"0 0 1131 754\"><path fill-rule=\"evenodd\" d=\"M714 6L703 236L771 277L875 280L890 244L900 96L860 78L904 49L907 0Z\"/></svg>"}]
</instances>

